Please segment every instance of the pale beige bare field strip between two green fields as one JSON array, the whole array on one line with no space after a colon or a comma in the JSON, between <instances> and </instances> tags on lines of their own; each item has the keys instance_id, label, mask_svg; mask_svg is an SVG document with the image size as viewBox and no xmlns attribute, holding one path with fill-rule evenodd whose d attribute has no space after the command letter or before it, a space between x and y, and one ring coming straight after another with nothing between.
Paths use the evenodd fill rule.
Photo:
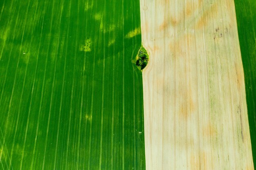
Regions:
<instances>
[{"instance_id":1,"label":"pale beige bare field strip between two green fields","mask_svg":"<svg viewBox=\"0 0 256 170\"><path fill-rule=\"evenodd\" d=\"M141 0L146 170L253 170L233 0Z\"/></svg>"}]
</instances>

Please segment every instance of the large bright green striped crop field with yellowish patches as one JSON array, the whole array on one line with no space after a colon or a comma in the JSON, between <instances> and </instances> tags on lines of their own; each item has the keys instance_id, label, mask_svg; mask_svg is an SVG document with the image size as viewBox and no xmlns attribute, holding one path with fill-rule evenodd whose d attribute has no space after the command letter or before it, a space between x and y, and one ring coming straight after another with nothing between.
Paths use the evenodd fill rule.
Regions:
<instances>
[{"instance_id":1,"label":"large bright green striped crop field with yellowish patches","mask_svg":"<svg viewBox=\"0 0 256 170\"><path fill-rule=\"evenodd\" d=\"M144 170L139 0L0 0L0 169Z\"/></svg>"}]
</instances>

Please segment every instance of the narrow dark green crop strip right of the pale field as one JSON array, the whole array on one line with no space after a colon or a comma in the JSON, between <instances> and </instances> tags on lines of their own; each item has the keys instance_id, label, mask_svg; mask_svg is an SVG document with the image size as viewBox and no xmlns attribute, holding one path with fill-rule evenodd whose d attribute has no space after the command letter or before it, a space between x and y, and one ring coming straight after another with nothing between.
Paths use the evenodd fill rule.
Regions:
<instances>
[{"instance_id":1,"label":"narrow dark green crop strip right of the pale field","mask_svg":"<svg viewBox=\"0 0 256 170\"><path fill-rule=\"evenodd\" d=\"M245 73L245 90L256 169L256 1L235 0L240 49Z\"/></svg>"}]
</instances>

